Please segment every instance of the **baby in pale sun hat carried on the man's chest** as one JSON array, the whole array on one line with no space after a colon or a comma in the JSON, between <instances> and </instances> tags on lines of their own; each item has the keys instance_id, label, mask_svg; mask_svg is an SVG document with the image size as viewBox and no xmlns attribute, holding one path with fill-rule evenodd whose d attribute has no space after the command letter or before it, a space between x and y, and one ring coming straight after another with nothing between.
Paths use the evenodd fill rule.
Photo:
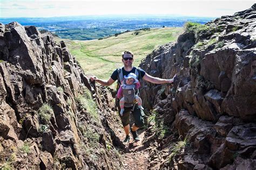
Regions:
<instances>
[{"instance_id":1,"label":"baby in pale sun hat carried on the man's chest","mask_svg":"<svg viewBox=\"0 0 256 170\"><path fill-rule=\"evenodd\" d=\"M128 76L124 76L124 81L118 89L117 97L120 98L120 115L124 114L124 103L133 103L134 100L138 102L139 108L143 110L142 99L135 94L136 90L139 89L140 83L137 79L136 74L130 73ZM122 98L121 98L122 97Z\"/></svg>"}]
</instances>

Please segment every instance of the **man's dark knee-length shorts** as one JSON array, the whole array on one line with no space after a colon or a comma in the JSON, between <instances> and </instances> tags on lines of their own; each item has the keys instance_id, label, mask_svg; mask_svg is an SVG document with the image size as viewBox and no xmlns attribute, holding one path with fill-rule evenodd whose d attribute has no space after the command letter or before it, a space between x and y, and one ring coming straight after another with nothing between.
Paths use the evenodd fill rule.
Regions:
<instances>
[{"instance_id":1,"label":"man's dark knee-length shorts","mask_svg":"<svg viewBox=\"0 0 256 170\"><path fill-rule=\"evenodd\" d=\"M138 108L138 104L135 105L134 110L132 110L131 108L124 108L124 115L121 116L120 115L120 109L118 109L118 114L121 118L122 124L123 126L126 126L130 123L130 114L132 114L133 118L134 118L134 124L136 125L136 127L141 128L144 125L144 112L143 110L140 110L140 108Z\"/></svg>"}]
</instances>

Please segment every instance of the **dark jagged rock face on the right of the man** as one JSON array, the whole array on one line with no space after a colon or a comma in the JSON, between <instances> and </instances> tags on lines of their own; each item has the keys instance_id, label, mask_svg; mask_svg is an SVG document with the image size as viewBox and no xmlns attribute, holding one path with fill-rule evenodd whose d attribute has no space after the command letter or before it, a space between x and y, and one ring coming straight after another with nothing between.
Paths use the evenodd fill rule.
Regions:
<instances>
[{"instance_id":1,"label":"dark jagged rock face on the right of the man","mask_svg":"<svg viewBox=\"0 0 256 170\"><path fill-rule=\"evenodd\" d=\"M143 107L168 117L165 124L189 140L185 153L160 167L256 167L255 13L256 4L206 29L186 30L140 64L152 76L170 79L177 73L180 80L178 86L143 82L140 90Z\"/></svg>"}]
</instances>

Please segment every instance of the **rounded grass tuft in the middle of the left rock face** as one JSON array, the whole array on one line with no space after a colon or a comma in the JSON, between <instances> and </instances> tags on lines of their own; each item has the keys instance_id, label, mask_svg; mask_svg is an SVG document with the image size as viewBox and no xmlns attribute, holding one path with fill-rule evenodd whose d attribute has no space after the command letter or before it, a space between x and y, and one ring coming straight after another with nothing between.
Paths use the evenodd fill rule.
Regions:
<instances>
[{"instance_id":1,"label":"rounded grass tuft in the middle of the left rock face","mask_svg":"<svg viewBox=\"0 0 256 170\"><path fill-rule=\"evenodd\" d=\"M41 119L43 124L49 124L50 119L53 115L53 110L51 106L47 103L44 103L41 108L39 108L39 118Z\"/></svg>"}]
</instances>

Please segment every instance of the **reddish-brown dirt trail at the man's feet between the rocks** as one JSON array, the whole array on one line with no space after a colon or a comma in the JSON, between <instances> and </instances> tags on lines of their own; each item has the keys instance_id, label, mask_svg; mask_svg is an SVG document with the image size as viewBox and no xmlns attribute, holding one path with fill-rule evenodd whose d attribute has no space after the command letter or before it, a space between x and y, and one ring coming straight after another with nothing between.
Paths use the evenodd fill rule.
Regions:
<instances>
[{"instance_id":1,"label":"reddish-brown dirt trail at the man's feet between the rocks","mask_svg":"<svg viewBox=\"0 0 256 170\"><path fill-rule=\"evenodd\" d=\"M119 131L118 137L124 140L124 131ZM122 160L124 169L147 169L149 164L149 151L144 143L145 130L138 130L140 140L134 142L130 134L130 143L123 143L125 150L122 152Z\"/></svg>"}]
</instances>

